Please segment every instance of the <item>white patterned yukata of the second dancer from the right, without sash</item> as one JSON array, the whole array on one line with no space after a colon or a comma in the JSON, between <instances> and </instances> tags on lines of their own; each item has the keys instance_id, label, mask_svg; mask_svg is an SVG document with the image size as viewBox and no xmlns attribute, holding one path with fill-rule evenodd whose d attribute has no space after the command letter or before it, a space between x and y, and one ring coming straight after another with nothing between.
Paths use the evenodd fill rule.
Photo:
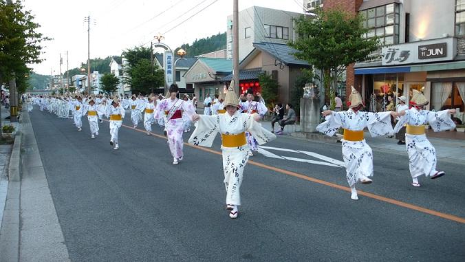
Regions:
<instances>
[{"instance_id":1,"label":"white patterned yukata of the second dancer from the right, without sash","mask_svg":"<svg viewBox=\"0 0 465 262\"><path fill-rule=\"evenodd\" d=\"M316 130L332 136L340 127L349 131L363 131L367 127L372 137L388 135L392 133L391 112L355 112L352 109L342 112L332 111L327 120L319 124ZM342 139L341 142L349 186L354 186L363 176L373 176L373 151L365 139L360 141Z\"/></svg>"}]
</instances>

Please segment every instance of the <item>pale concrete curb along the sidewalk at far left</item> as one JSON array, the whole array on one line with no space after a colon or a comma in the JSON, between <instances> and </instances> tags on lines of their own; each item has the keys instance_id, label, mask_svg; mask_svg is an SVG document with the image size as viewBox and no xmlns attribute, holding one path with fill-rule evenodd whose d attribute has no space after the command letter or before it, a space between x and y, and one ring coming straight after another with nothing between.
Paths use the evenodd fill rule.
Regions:
<instances>
[{"instance_id":1,"label":"pale concrete curb along the sidewalk at far left","mask_svg":"<svg viewBox=\"0 0 465 262\"><path fill-rule=\"evenodd\" d=\"M8 193L0 225L0 261L19 261L22 125L20 122L8 164Z\"/></svg>"}]
</instances>

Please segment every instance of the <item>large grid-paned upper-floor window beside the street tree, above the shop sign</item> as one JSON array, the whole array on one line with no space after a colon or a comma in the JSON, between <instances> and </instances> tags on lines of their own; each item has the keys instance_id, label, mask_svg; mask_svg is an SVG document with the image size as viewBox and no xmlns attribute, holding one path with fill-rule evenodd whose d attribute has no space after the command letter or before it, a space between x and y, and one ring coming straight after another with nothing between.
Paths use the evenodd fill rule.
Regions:
<instances>
[{"instance_id":1,"label":"large grid-paned upper-floor window beside the street tree, above the shop sign","mask_svg":"<svg viewBox=\"0 0 465 262\"><path fill-rule=\"evenodd\" d=\"M464 0L465 1L465 0ZM367 38L377 36L383 45L399 43L399 4L390 3L386 6L378 6L360 11L365 17L363 26L369 31Z\"/></svg>"}]
</instances>

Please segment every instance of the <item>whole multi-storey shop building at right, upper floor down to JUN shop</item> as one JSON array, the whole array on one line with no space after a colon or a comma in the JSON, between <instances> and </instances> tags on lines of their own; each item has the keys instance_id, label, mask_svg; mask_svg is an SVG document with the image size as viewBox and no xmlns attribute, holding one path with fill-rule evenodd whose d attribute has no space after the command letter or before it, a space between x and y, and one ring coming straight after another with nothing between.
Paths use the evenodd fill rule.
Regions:
<instances>
[{"instance_id":1,"label":"whole multi-storey shop building at right, upper floor down to JUN shop","mask_svg":"<svg viewBox=\"0 0 465 262\"><path fill-rule=\"evenodd\" d=\"M371 111L387 95L422 91L429 109L459 109L464 120L465 0L325 0L323 9L343 8L365 17L378 36L379 58L347 69L347 87L363 94Z\"/></svg>"}]
</instances>

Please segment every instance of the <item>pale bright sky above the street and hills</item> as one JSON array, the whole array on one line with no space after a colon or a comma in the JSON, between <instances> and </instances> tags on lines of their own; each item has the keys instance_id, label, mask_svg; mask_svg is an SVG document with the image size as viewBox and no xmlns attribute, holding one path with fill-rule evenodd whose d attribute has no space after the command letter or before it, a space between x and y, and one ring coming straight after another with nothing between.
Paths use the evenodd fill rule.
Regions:
<instances>
[{"instance_id":1,"label":"pale bright sky above the street and hills","mask_svg":"<svg viewBox=\"0 0 465 262\"><path fill-rule=\"evenodd\" d=\"M91 17L90 57L105 58L137 45L149 47L159 32L171 49L226 32L232 14L232 0L23 0L23 5L41 25L38 31L53 39L43 44L45 61L31 65L34 72L45 75L59 73L60 54L62 73L66 52L69 69L87 61L87 16ZM239 11L250 6L303 12L303 0L239 0Z\"/></svg>"}]
</instances>

